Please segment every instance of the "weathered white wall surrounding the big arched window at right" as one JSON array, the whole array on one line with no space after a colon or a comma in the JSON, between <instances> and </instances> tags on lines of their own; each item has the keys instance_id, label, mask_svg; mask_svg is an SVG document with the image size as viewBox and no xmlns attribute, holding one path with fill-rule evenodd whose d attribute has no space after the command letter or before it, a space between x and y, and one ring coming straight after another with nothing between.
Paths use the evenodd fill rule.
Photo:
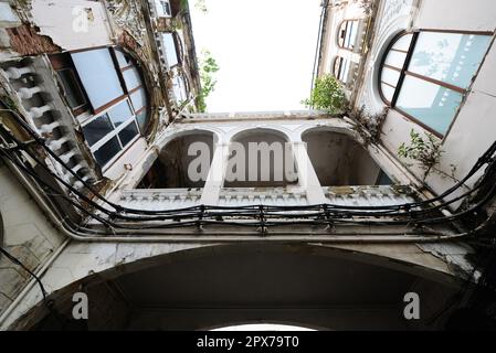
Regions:
<instances>
[{"instance_id":1,"label":"weathered white wall surrounding the big arched window at right","mask_svg":"<svg viewBox=\"0 0 496 353\"><path fill-rule=\"evenodd\" d=\"M443 15L441 15L443 13ZM461 15L463 13L463 15ZM378 93L378 69L386 47L395 34L404 30L441 29L446 31L494 31L496 23L496 2L494 1L439 1L415 2L388 0L382 2L379 12L374 43L368 57L368 72L356 106L366 105L371 111L384 107ZM496 47L493 45L481 66L475 82L462 103L451 130L440 140L444 151L436 167L441 172L432 172L428 184L437 193L455 183L450 178L462 179L475 164L481 154L496 139L493 113L496 109ZM390 110L382 128L382 142L398 159L398 148L410 141L410 131L428 133L418 124L401 114ZM402 160L407 165L411 160ZM422 179L424 171L413 163L411 171ZM478 174L479 175L479 174ZM471 183L477 178L473 178ZM468 184L471 184L468 183Z\"/></svg>"}]
</instances>

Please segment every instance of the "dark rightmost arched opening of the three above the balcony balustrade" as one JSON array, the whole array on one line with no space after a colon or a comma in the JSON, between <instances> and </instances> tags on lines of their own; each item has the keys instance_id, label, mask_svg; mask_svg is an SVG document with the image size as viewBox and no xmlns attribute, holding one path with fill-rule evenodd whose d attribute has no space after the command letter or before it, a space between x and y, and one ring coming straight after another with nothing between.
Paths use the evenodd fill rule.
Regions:
<instances>
[{"instance_id":1,"label":"dark rightmost arched opening of the three above the balcony balustrade","mask_svg":"<svg viewBox=\"0 0 496 353\"><path fill-rule=\"evenodd\" d=\"M345 133L314 129L302 136L320 185L391 184L363 147Z\"/></svg>"}]
</instances>

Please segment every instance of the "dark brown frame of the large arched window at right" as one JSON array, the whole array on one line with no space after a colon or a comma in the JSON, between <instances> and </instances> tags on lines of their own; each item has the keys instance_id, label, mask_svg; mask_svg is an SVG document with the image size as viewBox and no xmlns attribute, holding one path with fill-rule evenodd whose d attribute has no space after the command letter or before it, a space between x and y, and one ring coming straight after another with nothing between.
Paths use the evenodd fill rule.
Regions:
<instances>
[{"instance_id":1,"label":"dark brown frame of the large arched window at right","mask_svg":"<svg viewBox=\"0 0 496 353\"><path fill-rule=\"evenodd\" d=\"M467 88L462 88L462 87L456 86L456 85L452 85L452 84L448 84L448 83L445 83L445 82L442 82L442 81L439 81L439 79L435 79L435 78L431 78L431 77L428 77L428 76L424 76L424 75L421 75L421 74L416 74L416 73L410 72L408 68L409 68L409 66L410 66L410 63L411 63L413 53L414 53L414 51L415 51L416 41L418 41L418 39L419 39L420 33L422 33L422 32L428 32L428 33L429 33L429 32L433 32L433 33L446 33L446 34L473 34L473 35L493 35L494 33L493 33L493 32L477 32L477 31L434 30L434 29L420 29L420 30L415 30L415 31L402 31L402 32L398 33L398 34L391 40L391 42L388 44L388 46L387 46L387 49L386 49L386 51L384 51L384 54L382 55L382 58L381 58L381 62L380 62L380 65L379 65L380 68L379 68L379 73L378 73L378 89L379 89L379 95L380 95L382 101L383 101L389 108L393 109L394 111L398 111L399 114L401 114L402 116L404 116L404 117L408 118L409 120L413 121L414 124L419 125L420 127L422 127L422 128L425 129L426 131L433 133L434 136L436 136L436 137L440 138L440 139L444 139L444 138L450 133L453 124L455 122L456 118L457 118L458 115L460 115L460 110L461 110L462 105L463 105L463 99L465 99L466 96L467 96L467 94L471 92L473 82L475 81L475 78L476 78L477 75L478 75L478 72L479 72L479 69L481 69L482 63L481 63L479 67L477 67L476 72L475 72L475 74L474 74L474 77L472 78L472 83L471 83L471 85L468 85ZM410 34L412 35L412 41L410 42L409 50L408 50L408 51L398 51L398 52L402 52L402 53L405 53L405 54L407 54L407 57L405 57L404 63L403 63L403 67L402 67L401 69L399 69L398 67L394 67L394 66L391 66L391 65L386 64L386 60L387 60L389 53L391 52L391 50L393 50L394 44L395 44L402 36L404 36L404 35L410 35ZM393 50L393 51L397 51L397 50ZM486 54L487 54L487 53L486 53ZM393 94L393 96L392 96L391 101L389 101L389 100L386 98L386 96L384 96L384 94L383 94L383 92L382 92L382 87L381 87L382 84L386 84L386 85L388 85L388 86L391 86L391 85L389 85L388 83L386 83L386 82L382 81L382 68L383 68L383 67L390 68L390 69L393 69L393 71L397 71L397 72L399 72L399 74L400 74L400 77L399 77L399 79L398 79L398 84L397 84L395 87L393 87L393 88L394 88L394 94ZM456 113L455 113L455 115L453 116L453 119L451 120L451 122L450 122L450 125L448 125L448 127L447 127L447 129L446 129L446 131L445 131L444 133L441 133L441 132L436 131L436 130L433 129L432 127L430 127L430 126L428 126L426 124L420 121L418 118L413 117L411 114L404 111L403 109L401 109L401 108L399 108L399 107L397 106L398 98L399 98L399 96L400 96L401 88L403 87L403 83L404 83L404 79L405 79L407 76L410 76L410 77L414 77L414 78L419 78L419 79L425 81L425 82L428 82L428 83L431 83L431 84L434 84L434 85L437 85L437 86L441 86L441 87L451 89L451 90L453 90L453 92L458 93L458 94L462 95L462 103L461 103L461 104L458 105L458 107L456 108ZM392 86L391 86L391 87L392 87Z\"/></svg>"}]
</instances>

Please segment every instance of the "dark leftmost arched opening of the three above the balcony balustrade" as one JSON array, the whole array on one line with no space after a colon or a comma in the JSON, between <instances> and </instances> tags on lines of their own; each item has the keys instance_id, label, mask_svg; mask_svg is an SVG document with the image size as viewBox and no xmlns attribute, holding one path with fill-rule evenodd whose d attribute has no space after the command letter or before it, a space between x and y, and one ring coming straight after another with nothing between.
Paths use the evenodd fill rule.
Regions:
<instances>
[{"instance_id":1,"label":"dark leftmost arched opening of the three above the balcony balustrade","mask_svg":"<svg viewBox=\"0 0 496 353\"><path fill-rule=\"evenodd\" d=\"M176 137L162 148L138 189L203 188L213 150L213 132L194 130Z\"/></svg>"}]
</instances>

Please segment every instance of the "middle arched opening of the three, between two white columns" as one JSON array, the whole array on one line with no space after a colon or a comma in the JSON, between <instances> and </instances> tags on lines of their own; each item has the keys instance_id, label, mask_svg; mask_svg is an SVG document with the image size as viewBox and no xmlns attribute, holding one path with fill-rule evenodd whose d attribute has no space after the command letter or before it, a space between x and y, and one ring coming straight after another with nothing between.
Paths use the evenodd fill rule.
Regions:
<instances>
[{"instance_id":1,"label":"middle arched opening of the three, between two white columns","mask_svg":"<svg viewBox=\"0 0 496 353\"><path fill-rule=\"evenodd\" d=\"M225 188L277 188L296 184L293 148L285 135L251 129L230 143Z\"/></svg>"}]
</instances>

